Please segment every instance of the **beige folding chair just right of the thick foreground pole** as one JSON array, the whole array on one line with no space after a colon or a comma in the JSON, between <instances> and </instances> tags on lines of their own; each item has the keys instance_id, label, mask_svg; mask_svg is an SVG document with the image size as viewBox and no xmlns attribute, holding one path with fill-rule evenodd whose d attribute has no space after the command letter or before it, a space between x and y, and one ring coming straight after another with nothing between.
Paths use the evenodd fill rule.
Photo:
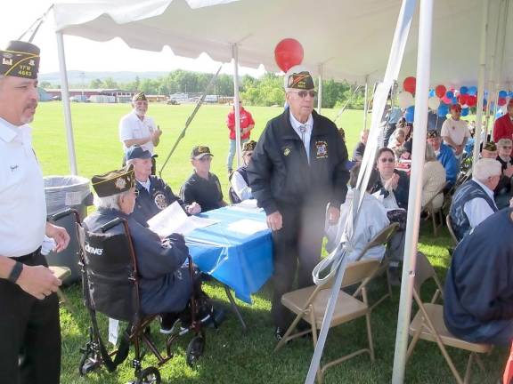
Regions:
<instances>
[{"instance_id":1,"label":"beige folding chair just right of the thick foreground pole","mask_svg":"<svg viewBox=\"0 0 513 384\"><path fill-rule=\"evenodd\" d=\"M492 350L492 346L488 344L471 343L468 341L460 340L455 336L452 336L451 332L447 330L444 324L444 306L435 304L436 300L443 295L442 285L436 276L435 268L429 263L429 260L425 255L417 253L417 266L415 270L415 281L413 285L413 298L419 306L417 315L413 318L410 324L410 335L412 337L410 346L406 358L411 356L413 348L417 344L419 339L436 342L438 348L440 348L445 361L451 368L454 378L458 384L467 383L470 379L470 370L474 358L477 364L484 370L484 366L479 359L477 354L488 353ZM420 287L430 277L433 277L436 283L436 292L430 302L425 303L420 299ZM461 379L460 373L452 363L451 356L447 353L445 346L460 348L470 352L468 356L467 370L465 377Z\"/></svg>"}]
</instances>

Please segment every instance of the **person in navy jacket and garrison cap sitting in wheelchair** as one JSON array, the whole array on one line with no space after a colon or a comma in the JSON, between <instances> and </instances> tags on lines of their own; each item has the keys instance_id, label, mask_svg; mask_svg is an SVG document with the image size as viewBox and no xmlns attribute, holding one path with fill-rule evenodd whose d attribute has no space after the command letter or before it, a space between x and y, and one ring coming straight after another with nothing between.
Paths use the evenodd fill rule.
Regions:
<instances>
[{"instance_id":1,"label":"person in navy jacket and garrison cap sitting in wheelchair","mask_svg":"<svg viewBox=\"0 0 513 384\"><path fill-rule=\"evenodd\" d=\"M188 268L183 265L189 250L182 235L173 234L161 240L129 216L135 205L134 181L132 167L93 176L98 209L85 218L84 228L100 232L110 220L127 220L137 256L142 312L164 314L161 332L167 333L191 298L193 283ZM122 227L116 226L106 233L118 235L122 231Z\"/></svg>"}]
</instances>

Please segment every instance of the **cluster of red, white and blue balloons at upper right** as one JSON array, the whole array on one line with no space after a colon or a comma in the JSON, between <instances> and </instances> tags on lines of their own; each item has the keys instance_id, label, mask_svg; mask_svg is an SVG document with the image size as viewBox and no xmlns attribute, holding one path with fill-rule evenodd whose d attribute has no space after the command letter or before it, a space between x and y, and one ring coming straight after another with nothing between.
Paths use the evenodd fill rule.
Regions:
<instances>
[{"instance_id":1,"label":"cluster of red, white and blue balloons at upper right","mask_svg":"<svg viewBox=\"0 0 513 384\"><path fill-rule=\"evenodd\" d=\"M397 104L400 108L405 109L404 117L406 121L413 122L414 104L416 89L416 79L413 76L406 77L403 81L403 92L397 94ZM508 98L513 98L513 92L501 91L498 94L497 105L506 105ZM487 92L485 92L485 99L483 106L486 106ZM435 89L429 91L428 107L436 112L438 116L445 117L450 111L452 104L459 103L461 105L461 116L468 116L470 108L477 105L477 87L476 86L461 86L459 90L454 88L447 89L444 85L436 85Z\"/></svg>"}]
</instances>

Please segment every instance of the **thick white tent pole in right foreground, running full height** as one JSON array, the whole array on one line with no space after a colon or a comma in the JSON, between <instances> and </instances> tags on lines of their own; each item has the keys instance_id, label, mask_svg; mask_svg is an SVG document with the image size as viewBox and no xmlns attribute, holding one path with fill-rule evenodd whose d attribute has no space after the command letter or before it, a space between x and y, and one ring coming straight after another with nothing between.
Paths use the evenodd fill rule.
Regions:
<instances>
[{"instance_id":1,"label":"thick white tent pole in right foreground, running full height","mask_svg":"<svg viewBox=\"0 0 513 384\"><path fill-rule=\"evenodd\" d=\"M433 28L433 0L421 0L419 10L419 48L417 52L417 89L415 94L415 132L411 159L408 217L403 256L403 284L395 335L394 371L392 382L403 383L408 348L408 328L411 317L411 297L415 278L417 243L419 241L420 201L422 173L428 130L428 92L431 63L431 38Z\"/></svg>"}]
</instances>

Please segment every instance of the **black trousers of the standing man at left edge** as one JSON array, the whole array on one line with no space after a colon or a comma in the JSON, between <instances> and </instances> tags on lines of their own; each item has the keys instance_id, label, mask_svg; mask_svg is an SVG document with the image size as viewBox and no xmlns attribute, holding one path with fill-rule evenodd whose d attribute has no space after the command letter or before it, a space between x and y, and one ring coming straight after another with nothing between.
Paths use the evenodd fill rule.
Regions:
<instances>
[{"instance_id":1,"label":"black trousers of the standing man at left edge","mask_svg":"<svg viewBox=\"0 0 513 384\"><path fill-rule=\"evenodd\" d=\"M16 259L47 265L40 252ZM59 300L37 300L0 279L0 383L58 384L61 376Z\"/></svg>"}]
</instances>

